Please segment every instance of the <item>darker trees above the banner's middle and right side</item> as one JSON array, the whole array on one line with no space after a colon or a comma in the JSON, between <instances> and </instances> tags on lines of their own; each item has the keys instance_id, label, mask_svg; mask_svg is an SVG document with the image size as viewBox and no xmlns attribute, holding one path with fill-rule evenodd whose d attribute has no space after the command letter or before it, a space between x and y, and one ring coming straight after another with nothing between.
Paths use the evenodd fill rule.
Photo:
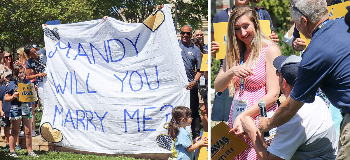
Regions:
<instances>
[{"instance_id":1,"label":"darker trees above the banner's middle and right side","mask_svg":"<svg viewBox=\"0 0 350 160\"><path fill-rule=\"evenodd\" d=\"M141 23L151 15L156 7L169 3L172 7L173 19L175 18L175 6L177 10L177 23L179 26L190 25L193 30L203 27L201 18L208 19L208 5L206 0L123 0L123 1L93 1L94 19L105 15L114 17L120 21ZM103 7L101 7L103 6Z\"/></svg>"}]
</instances>

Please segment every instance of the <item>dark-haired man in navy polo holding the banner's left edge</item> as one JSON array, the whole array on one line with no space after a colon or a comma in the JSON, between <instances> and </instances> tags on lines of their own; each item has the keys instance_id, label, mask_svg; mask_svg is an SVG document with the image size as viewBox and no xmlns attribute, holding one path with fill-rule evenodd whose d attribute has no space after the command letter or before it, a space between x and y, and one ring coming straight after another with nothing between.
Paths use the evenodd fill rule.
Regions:
<instances>
[{"instance_id":1,"label":"dark-haired man in navy polo holding the banner's left edge","mask_svg":"<svg viewBox=\"0 0 350 160\"><path fill-rule=\"evenodd\" d=\"M30 57L26 63L27 78L29 80L36 78L38 86L38 95L43 106L42 108L44 109L43 77L46 76L45 67L47 60L45 47L37 52L31 45L27 45L24 48L24 52L27 54L28 57ZM32 75L33 73L35 73L35 75Z\"/></svg>"}]
</instances>

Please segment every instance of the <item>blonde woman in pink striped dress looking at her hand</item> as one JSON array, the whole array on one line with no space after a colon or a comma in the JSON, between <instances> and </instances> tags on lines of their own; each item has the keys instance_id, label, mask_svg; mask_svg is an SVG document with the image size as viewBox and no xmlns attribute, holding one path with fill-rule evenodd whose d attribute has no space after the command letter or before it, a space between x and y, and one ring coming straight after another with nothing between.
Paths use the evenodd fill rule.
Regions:
<instances>
[{"instance_id":1,"label":"blonde woman in pink striped dress looking at her hand","mask_svg":"<svg viewBox=\"0 0 350 160\"><path fill-rule=\"evenodd\" d=\"M229 116L232 130L229 133L243 137L240 118L250 116L256 120L260 115L258 101L266 102L267 112L277 109L280 88L273 60L281 53L276 43L262 32L253 7L236 7L228 22L226 57L214 88L222 92L228 87L229 95L233 97ZM251 147L235 159L258 159L251 140L243 139Z\"/></svg>"}]
</instances>

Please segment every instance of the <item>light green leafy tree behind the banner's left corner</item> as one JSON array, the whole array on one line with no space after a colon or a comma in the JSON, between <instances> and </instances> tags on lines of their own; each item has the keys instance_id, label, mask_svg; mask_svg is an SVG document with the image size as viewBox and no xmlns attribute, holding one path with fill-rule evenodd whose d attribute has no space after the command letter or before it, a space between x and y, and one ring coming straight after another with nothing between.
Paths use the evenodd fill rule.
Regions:
<instances>
[{"instance_id":1,"label":"light green leafy tree behind the banner's left corner","mask_svg":"<svg viewBox=\"0 0 350 160\"><path fill-rule=\"evenodd\" d=\"M88 21L92 13L89 1L0 1L0 47L15 53L26 44L42 46L42 24L46 21Z\"/></svg>"}]
</instances>

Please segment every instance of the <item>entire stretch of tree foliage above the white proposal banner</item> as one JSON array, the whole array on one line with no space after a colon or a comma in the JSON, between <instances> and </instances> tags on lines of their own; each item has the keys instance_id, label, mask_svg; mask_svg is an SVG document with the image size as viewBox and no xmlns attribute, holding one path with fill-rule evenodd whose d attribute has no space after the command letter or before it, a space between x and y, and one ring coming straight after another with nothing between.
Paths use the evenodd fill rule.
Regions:
<instances>
[{"instance_id":1,"label":"entire stretch of tree foliage above the white proposal banner","mask_svg":"<svg viewBox=\"0 0 350 160\"><path fill-rule=\"evenodd\" d=\"M61 24L101 19L108 15L121 21L139 23L151 15L156 7L170 3L173 17L175 7L180 26L190 24L193 30L203 27L201 18L207 16L207 1L172 0L37 0L0 1L0 49L15 53L27 44L44 45L42 24L61 20Z\"/></svg>"}]
</instances>

